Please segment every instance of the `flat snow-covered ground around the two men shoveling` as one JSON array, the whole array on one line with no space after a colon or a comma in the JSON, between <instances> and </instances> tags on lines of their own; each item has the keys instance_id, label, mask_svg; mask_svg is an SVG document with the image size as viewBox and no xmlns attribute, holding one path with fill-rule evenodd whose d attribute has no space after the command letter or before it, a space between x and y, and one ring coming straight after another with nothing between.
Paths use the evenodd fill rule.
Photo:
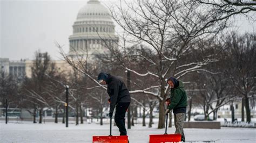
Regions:
<instances>
[{"instance_id":1,"label":"flat snow-covered ground around the two men shoveling","mask_svg":"<svg viewBox=\"0 0 256 143\"><path fill-rule=\"evenodd\" d=\"M93 135L109 135L109 125L100 126L97 123L69 124L66 128L62 123L33 124L31 121L12 121L8 124L0 121L0 142L92 142ZM168 128L167 133L174 133L175 128ZM150 134L163 134L165 129L142 127L142 124L132 126L128 130L130 142L149 142ZM187 142L256 142L256 128L221 127L217 129L185 128ZM116 126L113 135L118 135Z\"/></svg>"}]
</instances>

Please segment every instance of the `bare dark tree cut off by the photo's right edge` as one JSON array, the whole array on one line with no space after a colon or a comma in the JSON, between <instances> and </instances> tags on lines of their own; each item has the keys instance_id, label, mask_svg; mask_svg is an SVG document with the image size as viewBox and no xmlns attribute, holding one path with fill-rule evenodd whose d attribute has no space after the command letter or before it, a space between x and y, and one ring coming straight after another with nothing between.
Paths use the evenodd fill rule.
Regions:
<instances>
[{"instance_id":1,"label":"bare dark tree cut off by the photo's right edge","mask_svg":"<svg viewBox=\"0 0 256 143\"><path fill-rule=\"evenodd\" d=\"M228 49L227 60L231 61L226 65L226 72L230 75L235 89L244 98L246 121L248 123L251 122L249 99L251 92L255 90L256 80L255 39L255 34L237 35L231 33L226 37L227 42L225 45Z\"/></svg>"}]
</instances>

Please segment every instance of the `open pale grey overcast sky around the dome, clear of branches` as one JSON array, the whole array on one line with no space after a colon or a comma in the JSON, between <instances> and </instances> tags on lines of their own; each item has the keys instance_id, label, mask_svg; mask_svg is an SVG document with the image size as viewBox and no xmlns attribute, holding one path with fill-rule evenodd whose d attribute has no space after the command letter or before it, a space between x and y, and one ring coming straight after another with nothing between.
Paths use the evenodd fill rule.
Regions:
<instances>
[{"instance_id":1,"label":"open pale grey overcast sky around the dome, clear of branches","mask_svg":"<svg viewBox=\"0 0 256 143\"><path fill-rule=\"evenodd\" d=\"M1 1L1 58L10 60L33 59L35 51L48 52L59 59L57 41L69 51L69 35L80 8L85 1ZM117 0L103 1L113 3ZM254 13L255 15L255 13ZM236 18L241 33L256 31L256 24ZM253 26L255 29L253 29Z\"/></svg>"}]
</instances>

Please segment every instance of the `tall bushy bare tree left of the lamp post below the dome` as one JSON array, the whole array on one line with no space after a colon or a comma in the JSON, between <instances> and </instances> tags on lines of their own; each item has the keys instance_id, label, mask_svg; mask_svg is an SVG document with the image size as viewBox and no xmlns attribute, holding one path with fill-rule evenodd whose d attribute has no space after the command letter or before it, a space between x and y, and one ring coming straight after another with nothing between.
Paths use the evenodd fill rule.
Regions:
<instances>
[{"instance_id":1,"label":"tall bushy bare tree left of the lamp post below the dome","mask_svg":"<svg viewBox=\"0 0 256 143\"><path fill-rule=\"evenodd\" d=\"M25 82L22 84L22 91L24 95L23 102L30 103L31 106L26 105L26 107L34 109L33 112L28 109L34 117L34 123L36 122L36 110L39 110L39 123L42 123L43 109L45 107L51 108L49 102L50 96L49 94L45 94L45 83L47 81L46 74L51 75L54 73L55 65L51 62L48 53L41 53L37 51L35 53L35 60L33 61L31 70L31 79L26 78Z\"/></svg>"}]
</instances>

